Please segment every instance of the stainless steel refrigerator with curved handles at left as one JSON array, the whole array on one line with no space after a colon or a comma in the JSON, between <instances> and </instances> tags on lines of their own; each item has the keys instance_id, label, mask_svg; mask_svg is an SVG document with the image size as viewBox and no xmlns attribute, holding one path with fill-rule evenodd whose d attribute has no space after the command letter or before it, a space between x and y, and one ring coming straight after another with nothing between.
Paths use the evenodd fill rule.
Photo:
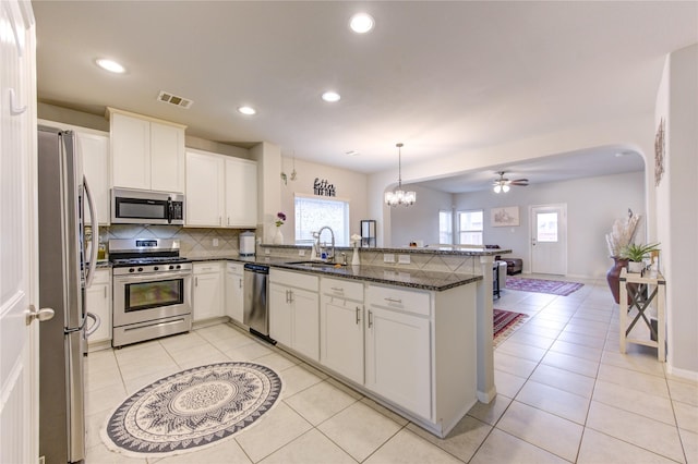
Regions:
<instances>
[{"instance_id":1,"label":"stainless steel refrigerator with curved handles at left","mask_svg":"<svg viewBox=\"0 0 698 464\"><path fill-rule=\"evenodd\" d=\"M39 325L39 455L76 463L85 459L84 302L97 262L97 215L72 132L38 127L37 169L39 305L55 310ZM85 256L86 207L93 256Z\"/></svg>"}]
</instances>

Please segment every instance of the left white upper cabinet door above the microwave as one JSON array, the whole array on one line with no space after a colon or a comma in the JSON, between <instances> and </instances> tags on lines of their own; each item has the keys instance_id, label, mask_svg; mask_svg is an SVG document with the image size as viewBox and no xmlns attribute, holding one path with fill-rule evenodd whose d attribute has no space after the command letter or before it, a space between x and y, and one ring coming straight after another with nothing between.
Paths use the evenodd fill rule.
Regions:
<instances>
[{"instance_id":1,"label":"left white upper cabinet door above the microwave","mask_svg":"<svg viewBox=\"0 0 698 464\"><path fill-rule=\"evenodd\" d=\"M110 114L113 186L151 190L151 123Z\"/></svg>"}]
</instances>

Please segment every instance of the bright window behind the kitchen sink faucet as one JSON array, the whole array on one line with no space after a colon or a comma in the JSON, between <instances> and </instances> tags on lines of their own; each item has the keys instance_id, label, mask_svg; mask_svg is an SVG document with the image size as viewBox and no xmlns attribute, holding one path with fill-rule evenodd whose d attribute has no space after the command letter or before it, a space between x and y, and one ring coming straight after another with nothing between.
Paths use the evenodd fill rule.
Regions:
<instances>
[{"instance_id":1,"label":"bright window behind the kitchen sink faucet","mask_svg":"<svg viewBox=\"0 0 698 464\"><path fill-rule=\"evenodd\" d=\"M349 202L296 195L296 244L313 243L313 232L328 225L335 233L335 246L349 246ZM323 232L323 242L329 234Z\"/></svg>"}]
</instances>

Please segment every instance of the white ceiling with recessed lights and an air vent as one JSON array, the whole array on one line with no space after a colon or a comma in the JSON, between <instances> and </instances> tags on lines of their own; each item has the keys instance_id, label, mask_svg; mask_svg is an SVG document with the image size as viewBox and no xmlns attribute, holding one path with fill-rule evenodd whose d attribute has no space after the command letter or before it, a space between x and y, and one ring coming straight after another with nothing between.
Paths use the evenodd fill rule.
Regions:
<instances>
[{"instance_id":1,"label":"white ceiling with recessed lights and an air vent","mask_svg":"<svg viewBox=\"0 0 698 464\"><path fill-rule=\"evenodd\" d=\"M39 101L96 114L112 106L186 124L196 137L266 141L287 156L365 173L395 169L397 142L407 166L600 117L651 114L666 53L698 41L694 1L33 5ZM374 16L371 34L349 30L358 11ZM98 69L105 57L127 74ZM322 101L326 89L341 101ZM194 103L170 107L156 100L160 90ZM238 114L240 105L258 113ZM583 166L610 164L609 154L594 156L600 162ZM555 163L558 175L581 169ZM550 166L502 168L533 183ZM485 187L494 171L478 173Z\"/></svg>"}]
</instances>

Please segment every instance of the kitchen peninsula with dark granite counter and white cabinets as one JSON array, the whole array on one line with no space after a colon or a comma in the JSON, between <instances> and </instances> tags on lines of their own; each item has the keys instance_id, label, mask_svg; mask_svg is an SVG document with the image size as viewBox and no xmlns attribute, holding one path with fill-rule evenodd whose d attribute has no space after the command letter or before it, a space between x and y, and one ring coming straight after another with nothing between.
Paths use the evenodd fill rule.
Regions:
<instances>
[{"instance_id":1,"label":"kitchen peninsula with dark granite counter and white cabinets","mask_svg":"<svg viewBox=\"0 0 698 464\"><path fill-rule=\"evenodd\" d=\"M190 257L268 265L269 337L438 437L494 398L492 262L508 251L360 248L341 266L352 248L338 265L308 248Z\"/></svg>"}]
</instances>

